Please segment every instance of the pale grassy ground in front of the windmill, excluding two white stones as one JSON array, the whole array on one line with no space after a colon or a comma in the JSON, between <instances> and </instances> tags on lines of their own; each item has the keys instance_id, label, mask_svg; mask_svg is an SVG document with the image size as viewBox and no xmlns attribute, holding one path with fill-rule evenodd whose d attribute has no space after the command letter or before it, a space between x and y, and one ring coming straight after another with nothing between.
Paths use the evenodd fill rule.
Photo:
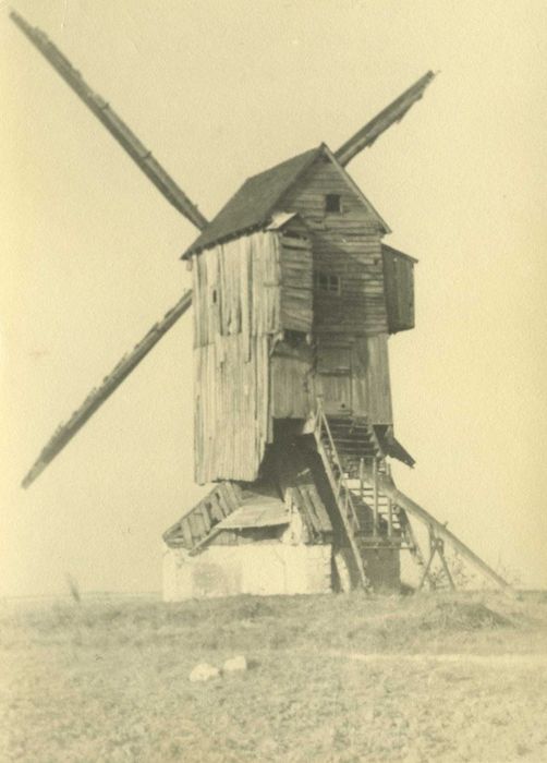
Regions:
<instances>
[{"instance_id":1,"label":"pale grassy ground in front of the windmill, excluding two white stones","mask_svg":"<svg viewBox=\"0 0 547 763\"><path fill-rule=\"evenodd\" d=\"M547 761L547 594L96 596L0 626L1 761Z\"/></svg>"}]
</instances>

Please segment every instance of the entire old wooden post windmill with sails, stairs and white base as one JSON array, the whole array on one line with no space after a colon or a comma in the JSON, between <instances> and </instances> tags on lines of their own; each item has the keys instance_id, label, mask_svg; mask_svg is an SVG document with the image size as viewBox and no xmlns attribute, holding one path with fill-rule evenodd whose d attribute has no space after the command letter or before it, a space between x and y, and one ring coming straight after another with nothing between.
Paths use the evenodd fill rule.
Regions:
<instances>
[{"instance_id":1,"label":"entire old wooden post windmill with sails, stairs and white base","mask_svg":"<svg viewBox=\"0 0 547 763\"><path fill-rule=\"evenodd\" d=\"M421 585L451 543L505 581L397 489L388 339L414 327L416 259L384 242L387 222L347 172L422 98L427 72L338 150L326 144L243 183L208 221L61 51L17 27L162 195L199 231L182 259L193 290L62 424L28 487L193 306L195 479L210 493L163 534L166 597L398 588L400 553ZM420 550L409 517L424 522Z\"/></svg>"}]
</instances>

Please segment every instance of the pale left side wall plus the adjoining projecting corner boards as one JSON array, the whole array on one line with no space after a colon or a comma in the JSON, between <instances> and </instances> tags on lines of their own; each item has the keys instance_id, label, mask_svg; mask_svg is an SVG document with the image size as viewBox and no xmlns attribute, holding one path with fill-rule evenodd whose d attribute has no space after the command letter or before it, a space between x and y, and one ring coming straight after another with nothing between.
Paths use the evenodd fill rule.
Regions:
<instances>
[{"instance_id":1,"label":"pale left side wall plus the adjoining projecting corner boards","mask_svg":"<svg viewBox=\"0 0 547 763\"><path fill-rule=\"evenodd\" d=\"M258 231L194 255L193 274L196 482L252 482L272 416L308 411L311 358L270 355L283 330L312 329L311 245Z\"/></svg>"}]
</instances>

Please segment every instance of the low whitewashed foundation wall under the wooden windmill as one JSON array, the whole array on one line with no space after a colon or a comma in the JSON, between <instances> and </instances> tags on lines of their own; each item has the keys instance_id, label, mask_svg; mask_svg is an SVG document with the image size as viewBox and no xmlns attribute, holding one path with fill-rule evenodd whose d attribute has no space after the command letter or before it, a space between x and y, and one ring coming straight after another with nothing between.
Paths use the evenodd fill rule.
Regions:
<instances>
[{"instance_id":1,"label":"low whitewashed foundation wall under the wooden windmill","mask_svg":"<svg viewBox=\"0 0 547 763\"><path fill-rule=\"evenodd\" d=\"M330 545L280 542L210 545L196 556L166 547L163 600L329 593L331 556Z\"/></svg>"}]
</instances>

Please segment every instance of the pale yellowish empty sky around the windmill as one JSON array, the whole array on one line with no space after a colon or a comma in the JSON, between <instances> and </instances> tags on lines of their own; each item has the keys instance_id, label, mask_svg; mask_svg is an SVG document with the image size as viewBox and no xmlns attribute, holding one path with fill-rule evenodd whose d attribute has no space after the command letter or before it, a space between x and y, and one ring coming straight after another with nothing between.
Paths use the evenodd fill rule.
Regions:
<instances>
[{"instance_id":1,"label":"pale yellowish empty sky around the windmill","mask_svg":"<svg viewBox=\"0 0 547 763\"><path fill-rule=\"evenodd\" d=\"M547 586L547 5L538 0L13 0L212 216L338 148L429 69L348 167L417 257L390 339L398 486ZM28 491L61 421L190 286L196 231L0 7L0 595L159 591L193 483L183 317Z\"/></svg>"}]
</instances>

